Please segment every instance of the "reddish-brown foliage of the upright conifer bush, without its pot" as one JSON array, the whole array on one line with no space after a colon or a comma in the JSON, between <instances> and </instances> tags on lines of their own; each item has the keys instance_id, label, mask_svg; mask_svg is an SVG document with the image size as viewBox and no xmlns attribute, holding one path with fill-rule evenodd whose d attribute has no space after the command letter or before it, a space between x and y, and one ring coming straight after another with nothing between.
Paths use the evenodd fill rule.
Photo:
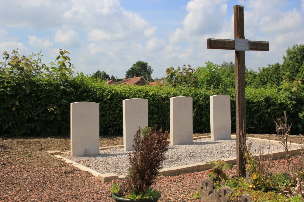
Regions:
<instances>
[{"instance_id":1,"label":"reddish-brown foliage of the upright conifer bush, without its pot","mask_svg":"<svg viewBox=\"0 0 304 202\"><path fill-rule=\"evenodd\" d=\"M142 134L142 135L141 135ZM130 168L127 176L129 193L144 193L146 188L155 184L165 152L169 149L169 134L155 127L142 130L140 127L133 138L134 150L129 153Z\"/></svg>"}]
</instances>

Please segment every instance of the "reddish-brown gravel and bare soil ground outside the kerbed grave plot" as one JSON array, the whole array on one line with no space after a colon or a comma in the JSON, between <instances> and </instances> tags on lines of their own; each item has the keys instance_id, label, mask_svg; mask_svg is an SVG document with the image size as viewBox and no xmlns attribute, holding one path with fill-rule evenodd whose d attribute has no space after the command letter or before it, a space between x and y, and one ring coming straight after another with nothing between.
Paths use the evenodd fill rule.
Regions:
<instances>
[{"instance_id":1,"label":"reddish-brown gravel and bare soil ground outside the kerbed grave plot","mask_svg":"<svg viewBox=\"0 0 304 202\"><path fill-rule=\"evenodd\" d=\"M194 137L210 135L194 134ZM247 134L248 137L278 140L278 135ZM297 136L289 140L297 143ZM122 136L100 137L100 147L121 145ZM0 202L4 201L114 201L110 197L112 182L102 183L90 173L80 171L47 155L47 151L70 151L69 137L0 138ZM275 161L282 167L285 160ZM236 167L229 171L235 175ZM195 201L191 197L208 171L158 177L154 186L162 201ZM121 180L115 180L121 181ZM113 181L113 182L115 182ZM189 198L190 197L190 198Z\"/></svg>"}]
</instances>

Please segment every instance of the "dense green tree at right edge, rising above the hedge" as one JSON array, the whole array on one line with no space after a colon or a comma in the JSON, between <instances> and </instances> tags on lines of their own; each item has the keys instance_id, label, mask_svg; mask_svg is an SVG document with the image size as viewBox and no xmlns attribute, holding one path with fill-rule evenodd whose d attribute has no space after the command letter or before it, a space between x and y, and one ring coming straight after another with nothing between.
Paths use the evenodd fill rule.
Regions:
<instances>
[{"instance_id":1,"label":"dense green tree at right edge, rising above the hedge","mask_svg":"<svg viewBox=\"0 0 304 202\"><path fill-rule=\"evenodd\" d=\"M304 76L304 45L293 45L283 55L282 75L290 80L303 79Z\"/></svg>"}]
</instances>

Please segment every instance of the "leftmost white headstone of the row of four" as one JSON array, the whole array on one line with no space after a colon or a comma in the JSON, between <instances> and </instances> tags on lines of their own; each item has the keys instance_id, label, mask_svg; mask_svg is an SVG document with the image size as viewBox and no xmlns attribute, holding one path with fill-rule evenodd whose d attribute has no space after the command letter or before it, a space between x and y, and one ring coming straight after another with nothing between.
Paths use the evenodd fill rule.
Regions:
<instances>
[{"instance_id":1,"label":"leftmost white headstone of the row of four","mask_svg":"<svg viewBox=\"0 0 304 202\"><path fill-rule=\"evenodd\" d=\"M71 156L99 154L99 103L71 103Z\"/></svg>"}]
</instances>

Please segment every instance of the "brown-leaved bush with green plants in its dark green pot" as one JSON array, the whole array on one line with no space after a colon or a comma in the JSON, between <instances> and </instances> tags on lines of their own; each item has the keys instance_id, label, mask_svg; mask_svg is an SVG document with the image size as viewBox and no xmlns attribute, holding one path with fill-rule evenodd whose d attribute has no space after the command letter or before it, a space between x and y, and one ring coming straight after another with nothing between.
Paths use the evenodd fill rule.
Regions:
<instances>
[{"instance_id":1,"label":"brown-leaved bush with green plants in its dark green pot","mask_svg":"<svg viewBox=\"0 0 304 202\"><path fill-rule=\"evenodd\" d=\"M142 135L141 135L142 134ZM161 162L169 149L168 131L139 127L133 138L134 150L129 153L130 167L126 184L112 184L110 191L116 202L121 201L158 201L161 193L150 189L156 183Z\"/></svg>"}]
</instances>

